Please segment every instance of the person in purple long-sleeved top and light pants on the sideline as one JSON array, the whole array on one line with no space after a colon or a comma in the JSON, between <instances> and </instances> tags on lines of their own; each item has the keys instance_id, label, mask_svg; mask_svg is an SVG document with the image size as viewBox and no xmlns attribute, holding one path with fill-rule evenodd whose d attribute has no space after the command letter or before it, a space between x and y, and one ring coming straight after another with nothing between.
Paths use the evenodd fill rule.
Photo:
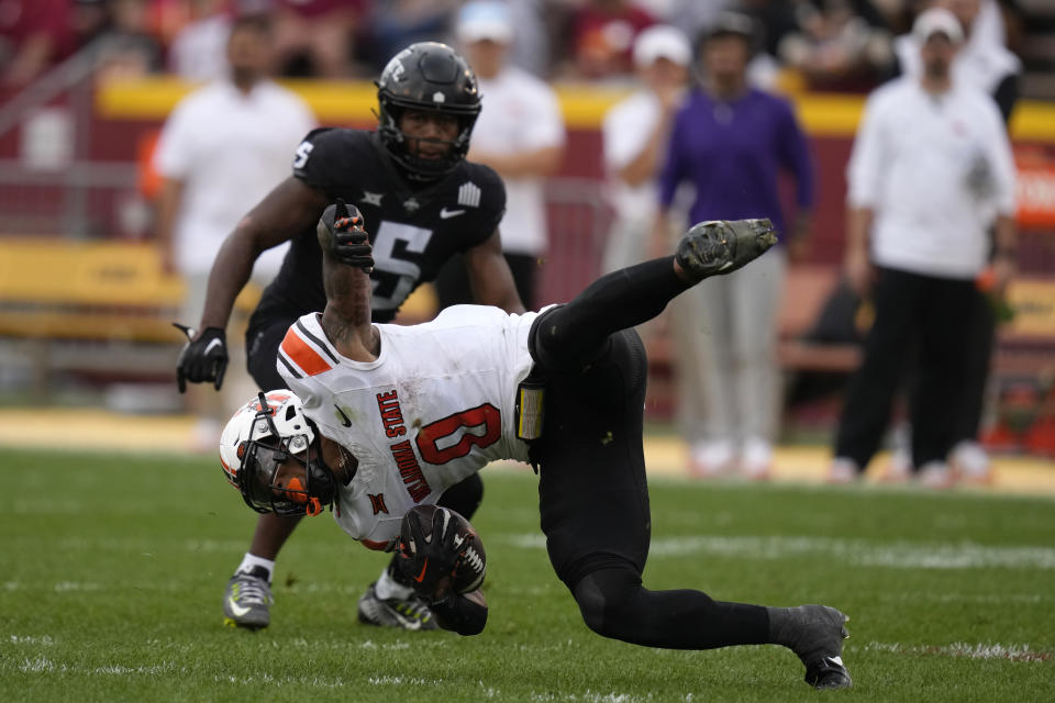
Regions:
<instances>
[{"instance_id":1,"label":"person in purple long-sleeved top and light pants on the sideline","mask_svg":"<svg viewBox=\"0 0 1055 703\"><path fill-rule=\"evenodd\" d=\"M769 217L792 254L802 253L813 205L810 148L791 104L749 85L754 46L747 15L722 13L704 29L701 85L675 118L659 174L654 246L670 231L675 194L687 183L696 189L690 222ZM791 223L781 210L781 171L796 183ZM695 476L769 475L781 400L776 337L786 265L787 252L776 247L749 270L706 281L673 311L680 421Z\"/></svg>"}]
</instances>

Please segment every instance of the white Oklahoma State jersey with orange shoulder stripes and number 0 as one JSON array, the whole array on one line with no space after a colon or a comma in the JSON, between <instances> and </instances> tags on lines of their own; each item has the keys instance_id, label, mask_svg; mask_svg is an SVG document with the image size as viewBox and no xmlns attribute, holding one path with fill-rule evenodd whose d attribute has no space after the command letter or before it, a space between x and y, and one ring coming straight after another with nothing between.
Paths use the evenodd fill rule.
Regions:
<instances>
[{"instance_id":1,"label":"white Oklahoma State jersey with orange shoulder stripes and number 0","mask_svg":"<svg viewBox=\"0 0 1055 703\"><path fill-rule=\"evenodd\" d=\"M334 511L345 532L386 549L414 505L435 503L490 461L528 460L513 405L536 314L456 305L425 324L378 324L380 354L369 362L341 356L318 313L289 328L279 373L319 431L358 460Z\"/></svg>"}]
</instances>

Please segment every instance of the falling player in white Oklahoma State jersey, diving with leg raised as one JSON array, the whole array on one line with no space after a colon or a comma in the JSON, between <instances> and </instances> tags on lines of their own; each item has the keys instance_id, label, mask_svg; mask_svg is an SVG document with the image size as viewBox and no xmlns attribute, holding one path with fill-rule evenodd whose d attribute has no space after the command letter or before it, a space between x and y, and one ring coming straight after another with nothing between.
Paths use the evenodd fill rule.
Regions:
<instances>
[{"instance_id":1,"label":"falling player in white Oklahoma State jersey, diving with leg raised","mask_svg":"<svg viewBox=\"0 0 1055 703\"><path fill-rule=\"evenodd\" d=\"M225 431L224 470L246 503L286 514L333 505L354 537L385 547L411 505L434 502L489 460L526 458L538 470L549 560L590 629L676 649L780 644L806 665L810 684L851 685L841 658L846 616L833 607L642 584L646 361L633 326L703 278L762 255L776 242L769 221L697 224L676 256L610 274L538 314L467 305L410 328L370 322L360 223L338 202L319 224L326 308L290 328L278 359L297 395L251 404ZM442 551L448 542L429 543L430 573L456 563ZM448 629L482 629L482 599L420 595Z\"/></svg>"}]
</instances>

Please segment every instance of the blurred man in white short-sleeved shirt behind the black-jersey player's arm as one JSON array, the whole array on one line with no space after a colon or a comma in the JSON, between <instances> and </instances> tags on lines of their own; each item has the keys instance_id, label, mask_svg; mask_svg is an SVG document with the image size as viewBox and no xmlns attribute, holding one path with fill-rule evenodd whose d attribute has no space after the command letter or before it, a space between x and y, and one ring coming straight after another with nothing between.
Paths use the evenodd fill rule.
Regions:
<instances>
[{"instance_id":1,"label":"blurred man in white short-sleeved shirt behind the black-jersey player's arm","mask_svg":"<svg viewBox=\"0 0 1055 703\"><path fill-rule=\"evenodd\" d=\"M230 77L189 94L162 131L154 164L160 174L157 244L168 271L187 286L182 319L199 320L209 271L227 233L253 204L289 172L289 155L314 126L308 107L268 79L270 24L262 15L237 19L227 41ZM258 283L278 270L286 247L264 253L253 270ZM226 399L243 388L231 380ZM201 414L202 448L219 436L231 413L219 394L192 386L192 410Z\"/></svg>"}]
</instances>

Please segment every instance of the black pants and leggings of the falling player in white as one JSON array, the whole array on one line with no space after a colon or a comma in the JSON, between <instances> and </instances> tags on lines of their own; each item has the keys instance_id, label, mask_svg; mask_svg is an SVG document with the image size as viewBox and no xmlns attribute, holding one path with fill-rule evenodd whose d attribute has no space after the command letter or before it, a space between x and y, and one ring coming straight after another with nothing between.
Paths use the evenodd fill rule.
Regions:
<instances>
[{"instance_id":1,"label":"black pants and leggings of the falling player in white","mask_svg":"<svg viewBox=\"0 0 1055 703\"><path fill-rule=\"evenodd\" d=\"M637 645L708 649L768 641L758 605L693 590L649 591L651 514L642 448L647 362L632 330L688 284L673 257L610 274L541 314L529 348L545 369L538 507L557 576L590 629Z\"/></svg>"}]
</instances>

